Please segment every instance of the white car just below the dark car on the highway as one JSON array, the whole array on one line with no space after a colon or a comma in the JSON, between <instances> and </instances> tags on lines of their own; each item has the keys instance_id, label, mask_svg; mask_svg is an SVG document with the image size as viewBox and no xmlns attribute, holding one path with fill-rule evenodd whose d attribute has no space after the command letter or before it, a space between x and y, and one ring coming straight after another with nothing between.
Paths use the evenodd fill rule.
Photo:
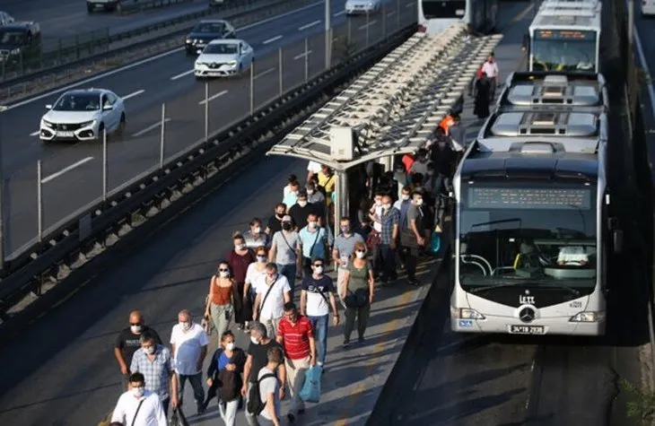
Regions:
<instances>
[{"instance_id":1,"label":"white car just below the dark car on the highway","mask_svg":"<svg viewBox=\"0 0 655 426\"><path fill-rule=\"evenodd\" d=\"M241 39L216 39L210 41L196 59L196 78L229 77L247 71L254 62L252 47Z\"/></svg>"}]
</instances>

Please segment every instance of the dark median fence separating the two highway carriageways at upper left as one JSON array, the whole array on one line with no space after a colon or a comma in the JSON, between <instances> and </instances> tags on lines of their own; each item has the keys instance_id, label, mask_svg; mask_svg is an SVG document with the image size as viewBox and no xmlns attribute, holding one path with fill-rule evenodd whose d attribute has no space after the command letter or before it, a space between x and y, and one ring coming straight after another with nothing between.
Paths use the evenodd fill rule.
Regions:
<instances>
[{"instance_id":1,"label":"dark median fence separating the two highway carriageways at upper left","mask_svg":"<svg viewBox=\"0 0 655 426\"><path fill-rule=\"evenodd\" d=\"M234 19L260 11L275 13L277 6L290 3L298 3L298 1L234 0L215 7L210 7L207 3L206 8L199 12L186 13L133 30L115 32L111 27L106 27L61 39L45 39L45 36L41 35L43 40L39 49L28 49L24 53L9 57L0 64L0 93L20 91L21 84L30 83L44 73L52 73L67 65L100 57L114 49L125 49L136 43L179 36L181 44L181 37L201 18L216 15L225 19Z\"/></svg>"}]
</instances>

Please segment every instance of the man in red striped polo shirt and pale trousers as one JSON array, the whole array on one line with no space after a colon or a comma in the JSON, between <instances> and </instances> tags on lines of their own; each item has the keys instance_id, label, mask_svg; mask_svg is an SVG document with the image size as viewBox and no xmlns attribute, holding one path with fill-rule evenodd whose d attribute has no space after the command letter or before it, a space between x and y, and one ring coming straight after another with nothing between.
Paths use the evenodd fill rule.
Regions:
<instances>
[{"instance_id":1,"label":"man in red striped polo shirt and pale trousers","mask_svg":"<svg viewBox=\"0 0 655 426\"><path fill-rule=\"evenodd\" d=\"M305 382L307 369L316 364L316 343L310 320L298 314L293 302L284 305L284 317L277 329L277 342L284 347L286 357L284 367L292 398L287 418L293 423L299 413L305 412L305 405L298 393Z\"/></svg>"}]
</instances>

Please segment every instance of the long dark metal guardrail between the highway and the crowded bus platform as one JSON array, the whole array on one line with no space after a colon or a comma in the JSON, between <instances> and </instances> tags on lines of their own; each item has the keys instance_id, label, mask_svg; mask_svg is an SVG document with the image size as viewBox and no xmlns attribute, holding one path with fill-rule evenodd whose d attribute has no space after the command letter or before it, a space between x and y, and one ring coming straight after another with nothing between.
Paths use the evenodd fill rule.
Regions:
<instances>
[{"instance_id":1,"label":"long dark metal guardrail between the highway and the crowded bus platform","mask_svg":"<svg viewBox=\"0 0 655 426\"><path fill-rule=\"evenodd\" d=\"M286 91L283 96L271 100L234 126L212 135L209 143L180 152L162 170L139 179L121 192L109 196L105 202L93 205L76 221L67 224L60 239L51 239L30 256L24 256L20 263L11 266L12 274L0 282L0 318L3 319L0 331L15 319L7 311L25 295L49 294L51 291L42 290L56 285L60 281L57 277L63 270L71 272L78 267L83 268L89 259L138 228L147 218L166 211L174 201L193 192L192 189L198 184L222 174L231 161L258 153L262 144L268 147L275 142L271 141L270 133L276 127L275 123L284 122L284 126L289 126L291 117L310 112L307 109L313 105L312 102L317 102L316 98L321 93L361 73L362 68L372 65L403 43L415 30L416 25L412 24L379 44L363 48L344 63ZM82 263L80 259L84 259ZM39 306L40 299L32 305ZM40 303L47 304L47 301Z\"/></svg>"}]
</instances>

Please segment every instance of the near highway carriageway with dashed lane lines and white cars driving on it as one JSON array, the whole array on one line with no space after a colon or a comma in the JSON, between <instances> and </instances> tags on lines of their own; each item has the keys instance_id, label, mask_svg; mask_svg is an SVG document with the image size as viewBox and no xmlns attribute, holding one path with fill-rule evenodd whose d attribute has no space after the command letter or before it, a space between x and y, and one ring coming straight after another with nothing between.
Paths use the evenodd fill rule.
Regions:
<instances>
[{"instance_id":1,"label":"near highway carriageway with dashed lane lines and white cars driving on it","mask_svg":"<svg viewBox=\"0 0 655 426\"><path fill-rule=\"evenodd\" d=\"M383 29L391 32L415 22L413 3L400 0L367 21L365 17L346 19L343 2L334 3L333 36L347 36L358 48L380 39ZM400 19L397 19L397 16ZM249 25L239 37L252 44L256 52L254 102L256 106L272 100L279 93L278 49L283 48L284 90L318 74L324 66L324 9L310 4L297 12ZM307 60L305 42L308 39ZM307 65L306 65L307 63ZM193 58L174 51L127 65L105 76L76 83L76 87L103 87L126 99L127 132L122 139L111 140L108 154L109 190L136 178L159 163L162 103L167 119L165 153L175 152L205 137L205 83L196 82L192 74ZM215 80L209 83L210 133L249 113L249 76ZM102 191L102 154L100 143L39 142L39 118L44 106L57 99L61 91L24 100L3 113L5 218L8 223L7 249L13 252L37 235L37 161L42 161L44 229L98 199ZM73 170L70 168L73 167ZM68 171L65 171L68 170Z\"/></svg>"}]
</instances>

